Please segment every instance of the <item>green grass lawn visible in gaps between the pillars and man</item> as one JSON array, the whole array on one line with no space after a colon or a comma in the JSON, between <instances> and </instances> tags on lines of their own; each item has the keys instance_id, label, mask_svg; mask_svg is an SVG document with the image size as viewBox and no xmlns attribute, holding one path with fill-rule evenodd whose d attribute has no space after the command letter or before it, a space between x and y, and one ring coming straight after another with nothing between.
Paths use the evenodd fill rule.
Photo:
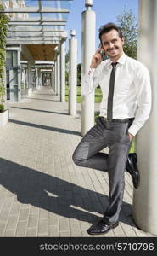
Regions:
<instances>
[{"instance_id":1,"label":"green grass lawn visible in gaps between the pillars and man","mask_svg":"<svg viewBox=\"0 0 157 256\"><path fill-rule=\"evenodd\" d=\"M102 100L102 92L100 88L95 89L95 103L100 103ZM69 88L66 85L65 88L65 101L69 102ZM81 103L81 86L77 86L77 103ZM99 113L95 113L95 119L98 117ZM135 152L135 143L136 139L134 138L132 141L132 147L130 149L130 153Z\"/></svg>"}]
</instances>

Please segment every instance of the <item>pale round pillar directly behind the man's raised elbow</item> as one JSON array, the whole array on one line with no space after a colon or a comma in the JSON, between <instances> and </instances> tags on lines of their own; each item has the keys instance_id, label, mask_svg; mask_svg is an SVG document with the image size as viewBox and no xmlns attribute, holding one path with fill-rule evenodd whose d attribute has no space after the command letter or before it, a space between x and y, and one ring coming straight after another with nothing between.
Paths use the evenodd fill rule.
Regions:
<instances>
[{"instance_id":1,"label":"pale round pillar directly behind the man's raised elbow","mask_svg":"<svg viewBox=\"0 0 157 256\"><path fill-rule=\"evenodd\" d=\"M92 0L86 0L87 10L81 15L81 81L88 73L92 56L95 53L95 23L96 17L91 7ZM81 96L81 135L94 125L94 92L89 96Z\"/></svg>"}]
</instances>

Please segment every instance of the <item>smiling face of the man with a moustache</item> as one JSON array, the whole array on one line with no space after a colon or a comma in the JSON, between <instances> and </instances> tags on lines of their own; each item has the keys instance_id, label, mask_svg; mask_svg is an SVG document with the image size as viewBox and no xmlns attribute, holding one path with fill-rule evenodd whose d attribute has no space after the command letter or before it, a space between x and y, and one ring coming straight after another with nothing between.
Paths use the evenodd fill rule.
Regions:
<instances>
[{"instance_id":1,"label":"smiling face of the man with a moustache","mask_svg":"<svg viewBox=\"0 0 157 256\"><path fill-rule=\"evenodd\" d=\"M101 37L105 54L111 61L117 61L123 54L124 38L120 38L119 33L112 29L104 33Z\"/></svg>"}]
</instances>

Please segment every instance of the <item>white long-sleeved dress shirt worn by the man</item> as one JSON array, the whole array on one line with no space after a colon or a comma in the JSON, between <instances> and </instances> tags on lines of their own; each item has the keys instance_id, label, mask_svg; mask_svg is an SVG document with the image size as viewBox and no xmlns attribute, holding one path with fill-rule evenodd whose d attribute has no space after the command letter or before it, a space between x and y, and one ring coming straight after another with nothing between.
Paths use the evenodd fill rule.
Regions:
<instances>
[{"instance_id":1,"label":"white long-sleeved dress shirt worn by the man","mask_svg":"<svg viewBox=\"0 0 157 256\"><path fill-rule=\"evenodd\" d=\"M151 86L148 69L123 53L117 60L113 98L113 119L135 118L128 132L136 135L151 110ZM102 61L82 79L81 94L88 95L100 85L103 99L100 116L107 117L109 79L112 61Z\"/></svg>"}]
</instances>

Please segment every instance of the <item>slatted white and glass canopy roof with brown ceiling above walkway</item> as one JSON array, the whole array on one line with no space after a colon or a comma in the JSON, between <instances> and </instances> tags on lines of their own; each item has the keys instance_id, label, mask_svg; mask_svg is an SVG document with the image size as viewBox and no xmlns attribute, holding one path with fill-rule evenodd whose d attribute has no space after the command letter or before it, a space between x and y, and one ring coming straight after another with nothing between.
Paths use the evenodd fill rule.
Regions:
<instances>
[{"instance_id":1,"label":"slatted white and glass canopy roof with brown ceiling above walkway","mask_svg":"<svg viewBox=\"0 0 157 256\"><path fill-rule=\"evenodd\" d=\"M7 45L26 45L38 61L53 61L55 47L64 41L69 0L1 0L10 18Z\"/></svg>"}]
</instances>

